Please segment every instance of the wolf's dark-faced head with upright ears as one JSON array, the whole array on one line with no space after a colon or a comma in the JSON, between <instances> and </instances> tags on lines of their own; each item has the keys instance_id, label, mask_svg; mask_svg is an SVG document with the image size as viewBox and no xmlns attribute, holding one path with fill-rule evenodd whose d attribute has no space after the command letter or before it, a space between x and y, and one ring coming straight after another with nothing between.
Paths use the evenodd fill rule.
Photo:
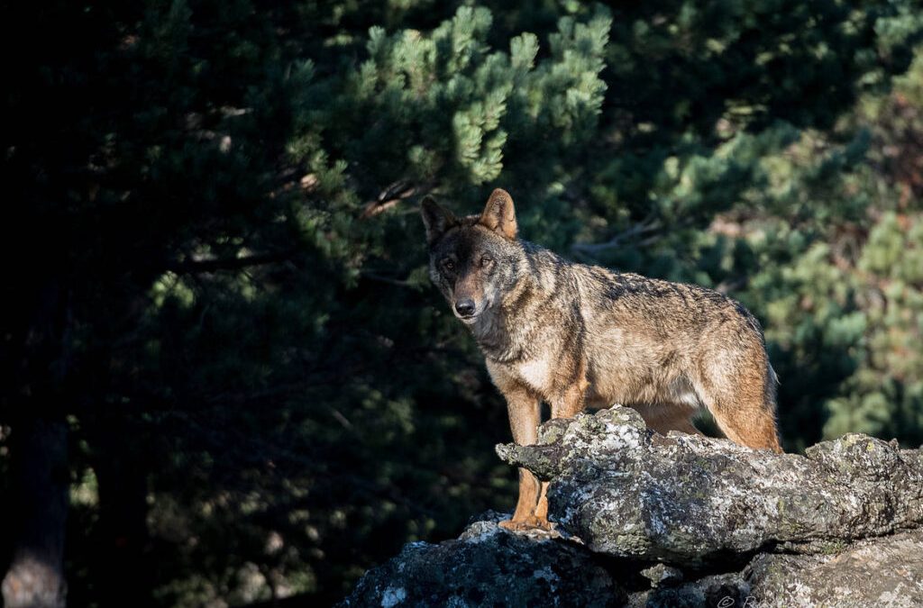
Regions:
<instances>
[{"instance_id":1,"label":"wolf's dark-faced head with upright ears","mask_svg":"<svg viewBox=\"0 0 923 608\"><path fill-rule=\"evenodd\" d=\"M523 266L513 199L504 190L494 190L481 215L457 218L426 197L421 213L429 244L429 276L455 316L473 324L511 291Z\"/></svg>"}]
</instances>

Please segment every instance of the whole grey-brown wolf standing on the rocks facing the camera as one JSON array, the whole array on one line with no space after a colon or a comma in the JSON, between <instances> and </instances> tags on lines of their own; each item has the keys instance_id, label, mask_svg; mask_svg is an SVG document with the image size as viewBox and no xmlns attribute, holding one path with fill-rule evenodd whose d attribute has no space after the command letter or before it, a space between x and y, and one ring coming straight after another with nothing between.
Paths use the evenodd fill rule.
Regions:
<instances>
[{"instance_id":1,"label":"whole grey-brown wolf standing on the rocks facing the camera","mask_svg":"<svg viewBox=\"0 0 923 608\"><path fill-rule=\"evenodd\" d=\"M696 285L571 262L519 238L513 199L497 189L480 215L421 203L429 275L471 330L507 401L513 441L553 418L615 403L654 431L697 433L701 407L731 440L781 452L778 382L759 322ZM511 530L548 529L545 483L519 471Z\"/></svg>"}]
</instances>

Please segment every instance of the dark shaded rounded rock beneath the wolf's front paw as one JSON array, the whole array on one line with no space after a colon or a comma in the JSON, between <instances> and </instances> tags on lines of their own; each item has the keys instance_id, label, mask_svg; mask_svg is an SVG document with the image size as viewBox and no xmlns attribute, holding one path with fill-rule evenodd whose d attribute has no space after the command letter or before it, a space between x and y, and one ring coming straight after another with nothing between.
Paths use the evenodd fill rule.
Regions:
<instances>
[{"instance_id":1,"label":"dark shaded rounded rock beneath the wolf's front paw","mask_svg":"<svg viewBox=\"0 0 923 608\"><path fill-rule=\"evenodd\" d=\"M478 521L458 540L412 542L366 573L342 606L621 606L626 595L593 554L546 532Z\"/></svg>"}]
</instances>

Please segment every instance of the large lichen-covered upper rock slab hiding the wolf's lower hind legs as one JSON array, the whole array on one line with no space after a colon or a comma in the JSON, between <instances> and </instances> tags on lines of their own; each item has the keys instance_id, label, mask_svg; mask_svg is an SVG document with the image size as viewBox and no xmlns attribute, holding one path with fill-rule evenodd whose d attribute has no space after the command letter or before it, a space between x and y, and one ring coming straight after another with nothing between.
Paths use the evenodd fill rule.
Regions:
<instances>
[{"instance_id":1,"label":"large lichen-covered upper rock slab hiding the wolf's lower hind legs","mask_svg":"<svg viewBox=\"0 0 923 608\"><path fill-rule=\"evenodd\" d=\"M783 544L823 552L923 522L919 450L866 435L773 454L657 435L614 407L545 424L537 446L498 446L551 480L550 518L592 551L679 565Z\"/></svg>"}]
</instances>

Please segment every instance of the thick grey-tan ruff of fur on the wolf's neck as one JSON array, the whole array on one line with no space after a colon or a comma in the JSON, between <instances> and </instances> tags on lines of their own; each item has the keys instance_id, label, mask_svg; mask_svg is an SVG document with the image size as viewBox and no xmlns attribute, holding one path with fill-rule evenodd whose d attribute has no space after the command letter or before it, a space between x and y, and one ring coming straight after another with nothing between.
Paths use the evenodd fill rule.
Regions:
<instances>
[{"instance_id":1,"label":"thick grey-tan ruff of fur on the wolf's neck","mask_svg":"<svg viewBox=\"0 0 923 608\"><path fill-rule=\"evenodd\" d=\"M472 326L474 339L485 357L498 363L528 361L543 345L534 340L556 315L562 292L569 292L571 263L538 245L521 242L524 256L517 264L519 276L503 299ZM578 322L579 319L572 319Z\"/></svg>"}]
</instances>

